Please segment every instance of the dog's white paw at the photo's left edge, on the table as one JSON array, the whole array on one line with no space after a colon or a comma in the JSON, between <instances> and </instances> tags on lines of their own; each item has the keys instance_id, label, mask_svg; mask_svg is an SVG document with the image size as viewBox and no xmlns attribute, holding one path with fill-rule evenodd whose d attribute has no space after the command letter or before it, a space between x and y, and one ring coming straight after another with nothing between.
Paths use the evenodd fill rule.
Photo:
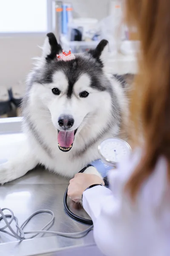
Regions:
<instances>
[{"instance_id":1,"label":"dog's white paw at the photo's left edge, on the table","mask_svg":"<svg viewBox=\"0 0 170 256\"><path fill-rule=\"evenodd\" d=\"M0 184L16 179L16 170L9 162L0 164Z\"/></svg>"}]
</instances>

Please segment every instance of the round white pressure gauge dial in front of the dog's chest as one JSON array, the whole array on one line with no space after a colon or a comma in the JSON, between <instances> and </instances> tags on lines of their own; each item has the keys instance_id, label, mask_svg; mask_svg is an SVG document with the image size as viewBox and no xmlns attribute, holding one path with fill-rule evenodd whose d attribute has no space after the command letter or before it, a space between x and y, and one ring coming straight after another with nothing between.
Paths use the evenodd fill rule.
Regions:
<instances>
[{"instance_id":1,"label":"round white pressure gauge dial in front of the dog's chest","mask_svg":"<svg viewBox=\"0 0 170 256\"><path fill-rule=\"evenodd\" d=\"M121 139L110 138L104 140L98 147L102 159L109 165L116 167L116 164L124 160L130 152L130 145Z\"/></svg>"}]
</instances>

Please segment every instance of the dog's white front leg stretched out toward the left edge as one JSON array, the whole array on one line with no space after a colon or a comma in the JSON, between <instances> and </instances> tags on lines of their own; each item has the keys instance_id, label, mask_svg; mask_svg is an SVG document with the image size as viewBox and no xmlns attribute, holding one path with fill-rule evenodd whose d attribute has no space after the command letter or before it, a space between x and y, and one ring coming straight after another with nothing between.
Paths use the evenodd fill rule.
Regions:
<instances>
[{"instance_id":1,"label":"dog's white front leg stretched out toward the left edge","mask_svg":"<svg viewBox=\"0 0 170 256\"><path fill-rule=\"evenodd\" d=\"M27 143L16 153L14 158L0 164L0 184L15 180L37 166L38 161Z\"/></svg>"}]
</instances>

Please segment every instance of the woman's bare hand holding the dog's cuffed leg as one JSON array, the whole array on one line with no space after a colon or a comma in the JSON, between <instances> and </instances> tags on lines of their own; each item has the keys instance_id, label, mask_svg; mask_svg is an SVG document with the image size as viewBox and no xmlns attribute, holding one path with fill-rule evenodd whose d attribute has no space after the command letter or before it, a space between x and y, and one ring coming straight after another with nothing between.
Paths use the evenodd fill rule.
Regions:
<instances>
[{"instance_id":1,"label":"woman's bare hand holding the dog's cuffed leg","mask_svg":"<svg viewBox=\"0 0 170 256\"><path fill-rule=\"evenodd\" d=\"M67 194L73 201L80 201L85 189L93 184L101 183L104 185L104 181L98 175L77 173L69 182Z\"/></svg>"}]
</instances>

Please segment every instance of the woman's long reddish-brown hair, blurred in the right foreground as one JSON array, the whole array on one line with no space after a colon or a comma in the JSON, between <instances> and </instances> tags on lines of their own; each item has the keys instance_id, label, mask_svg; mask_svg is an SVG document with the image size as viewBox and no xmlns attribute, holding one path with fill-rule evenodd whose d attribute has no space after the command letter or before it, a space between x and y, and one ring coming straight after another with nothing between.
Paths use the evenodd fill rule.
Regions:
<instances>
[{"instance_id":1,"label":"woman's long reddish-brown hair, blurred in the right foreground","mask_svg":"<svg viewBox=\"0 0 170 256\"><path fill-rule=\"evenodd\" d=\"M170 0L125 0L125 10L141 41L131 118L134 145L142 135L145 154L126 184L135 198L160 156L168 161L170 180Z\"/></svg>"}]
</instances>

